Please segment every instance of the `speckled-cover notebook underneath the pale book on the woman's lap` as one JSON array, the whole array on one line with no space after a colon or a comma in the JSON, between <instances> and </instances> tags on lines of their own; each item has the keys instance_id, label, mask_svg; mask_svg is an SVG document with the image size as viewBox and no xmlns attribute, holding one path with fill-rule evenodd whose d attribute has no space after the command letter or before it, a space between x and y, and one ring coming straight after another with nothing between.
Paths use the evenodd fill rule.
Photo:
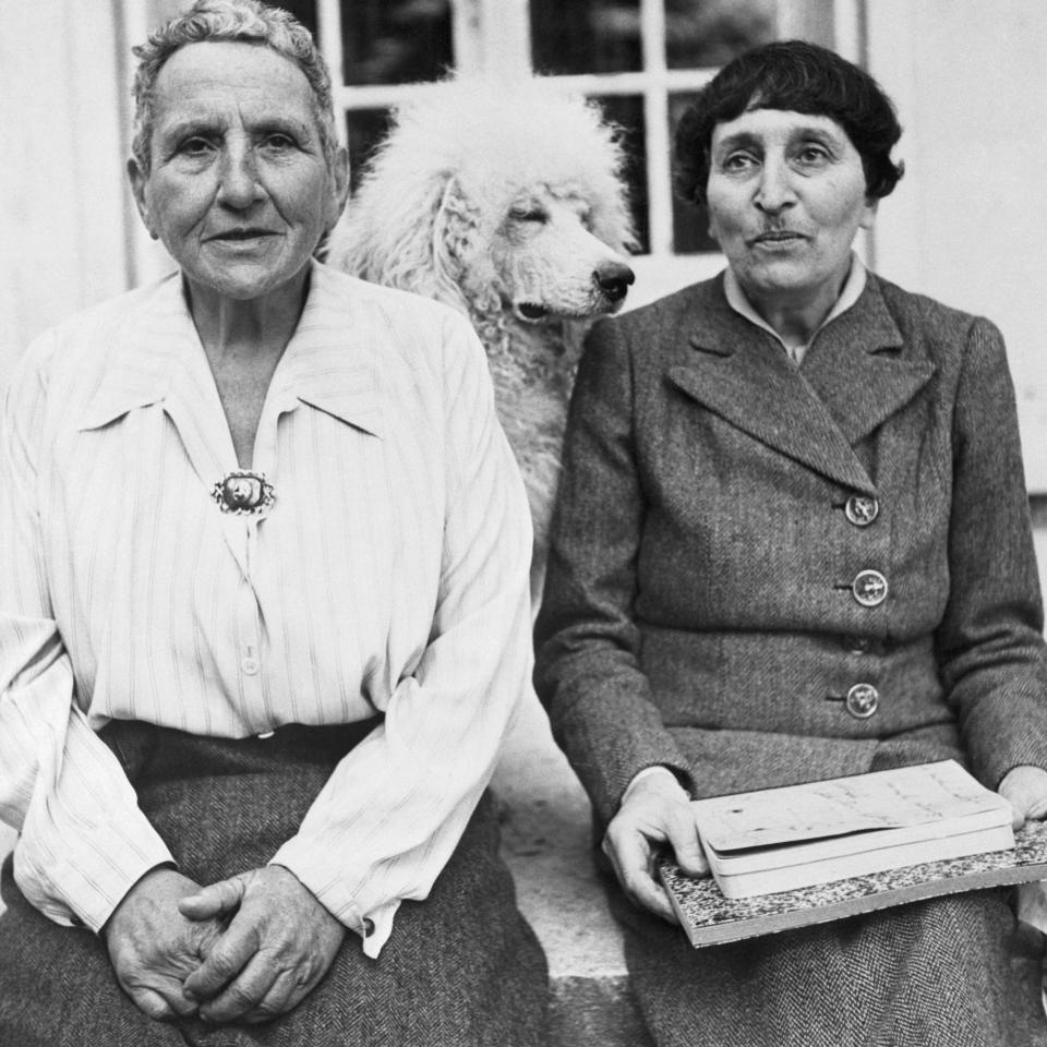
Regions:
<instances>
[{"instance_id":1,"label":"speckled-cover notebook underneath the pale book on the woman's lap","mask_svg":"<svg viewBox=\"0 0 1047 1047\"><path fill-rule=\"evenodd\" d=\"M688 940L702 948L943 894L1047 879L1047 825L1026 823L1008 851L926 862L755 898L724 898L714 879L691 879L672 861L662 862L659 874Z\"/></svg>"}]
</instances>

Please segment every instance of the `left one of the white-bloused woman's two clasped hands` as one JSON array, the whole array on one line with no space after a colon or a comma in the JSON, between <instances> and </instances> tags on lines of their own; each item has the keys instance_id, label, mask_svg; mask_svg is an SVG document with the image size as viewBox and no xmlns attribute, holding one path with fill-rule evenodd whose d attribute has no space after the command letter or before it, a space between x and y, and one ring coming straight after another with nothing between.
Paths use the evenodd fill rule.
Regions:
<instances>
[{"instance_id":1,"label":"left one of the white-bloused woman's two clasped hands","mask_svg":"<svg viewBox=\"0 0 1047 1047\"><path fill-rule=\"evenodd\" d=\"M182 984L221 935L216 919L186 919L179 913L179 901L198 890L174 869L153 869L128 891L103 929L120 987L155 1021L196 1013Z\"/></svg>"}]
</instances>

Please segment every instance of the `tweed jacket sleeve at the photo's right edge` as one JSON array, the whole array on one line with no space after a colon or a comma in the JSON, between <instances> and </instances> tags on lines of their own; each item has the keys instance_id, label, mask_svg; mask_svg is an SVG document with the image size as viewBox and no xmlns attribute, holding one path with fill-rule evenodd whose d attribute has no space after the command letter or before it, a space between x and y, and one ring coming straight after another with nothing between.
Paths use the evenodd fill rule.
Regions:
<instances>
[{"instance_id":1,"label":"tweed jacket sleeve at the photo's right edge","mask_svg":"<svg viewBox=\"0 0 1047 1047\"><path fill-rule=\"evenodd\" d=\"M971 325L956 388L949 574L942 683L972 770L995 789L1013 767L1047 767L1047 679L1014 389L985 320Z\"/></svg>"}]
</instances>

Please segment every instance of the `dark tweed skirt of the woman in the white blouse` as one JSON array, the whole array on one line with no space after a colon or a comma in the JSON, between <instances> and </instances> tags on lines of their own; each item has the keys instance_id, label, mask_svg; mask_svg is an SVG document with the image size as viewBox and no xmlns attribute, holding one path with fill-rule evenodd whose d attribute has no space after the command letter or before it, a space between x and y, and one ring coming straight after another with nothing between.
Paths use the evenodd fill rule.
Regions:
<instances>
[{"instance_id":1,"label":"dark tweed skirt of the woman in the white blouse","mask_svg":"<svg viewBox=\"0 0 1047 1047\"><path fill-rule=\"evenodd\" d=\"M103 737L180 869L202 883L263 866L334 765L373 724L287 727L268 739L200 738L142 724ZM516 908L488 796L424 902L405 902L378 960L354 934L323 982L265 1025L158 1023L113 976L104 942L41 916L14 884L0 916L2 1047L539 1047L546 967Z\"/></svg>"}]
</instances>

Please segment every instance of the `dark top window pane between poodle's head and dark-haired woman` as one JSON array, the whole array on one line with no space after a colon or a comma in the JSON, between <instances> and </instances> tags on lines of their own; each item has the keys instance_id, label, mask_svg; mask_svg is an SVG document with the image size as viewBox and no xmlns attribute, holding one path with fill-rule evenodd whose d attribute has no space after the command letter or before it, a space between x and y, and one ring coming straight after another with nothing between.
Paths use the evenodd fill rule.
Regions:
<instances>
[{"instance_id":1,"label":"dark top window pane between poodle's head and dark-haired woman","mask_svg":"<svg viewBox=\"0 0 1047 1047\"><path fill-rule=\"evenodd\" d=\"M531 0L531 59L541 73L637 72L640 0Z\"/></svg>"}]
</instances>

